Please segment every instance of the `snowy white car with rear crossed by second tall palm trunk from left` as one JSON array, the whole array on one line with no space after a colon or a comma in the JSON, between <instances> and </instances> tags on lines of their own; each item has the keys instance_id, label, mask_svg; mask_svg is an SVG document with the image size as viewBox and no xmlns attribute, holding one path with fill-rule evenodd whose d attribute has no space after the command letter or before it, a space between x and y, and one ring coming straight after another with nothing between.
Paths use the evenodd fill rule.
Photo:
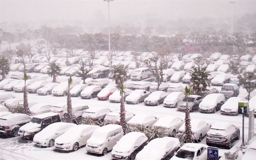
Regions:
<instances>
[{"instance_id":1,"label":"snowy white car with rear crossed by second tall palm trunk from left","mask_svg":"<svg viewBox=\"0 0 256 160\"><path fill-rule=\"evenodd\" d=\"M76 84L79 84L79 81L73 80L73 82L70 84L70 90L74 86L76 86ZM68 82L62 82L58 84L58 86L52 89L52 94L54 96L66 96L67 93L68 93Z\"/></svg>"}]
</instances>

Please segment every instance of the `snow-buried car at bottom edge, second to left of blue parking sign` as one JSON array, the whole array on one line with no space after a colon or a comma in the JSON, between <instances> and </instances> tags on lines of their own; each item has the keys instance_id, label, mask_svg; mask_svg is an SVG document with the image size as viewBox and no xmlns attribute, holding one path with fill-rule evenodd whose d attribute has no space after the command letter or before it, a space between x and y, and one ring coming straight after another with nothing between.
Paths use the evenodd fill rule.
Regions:
<instances>
[{"instance_id":1,"label":"snow-buried car at bottom edge, second to left of blue parking sign","mask_svg":"<svg viewBox=\"0 0 256 160\"><path fill-rule=\"evenodd\" d=\"M163 137L151 140L137 155L136 160L164 160L180 148L178 138Z\"/></svg>"}]
</instances>

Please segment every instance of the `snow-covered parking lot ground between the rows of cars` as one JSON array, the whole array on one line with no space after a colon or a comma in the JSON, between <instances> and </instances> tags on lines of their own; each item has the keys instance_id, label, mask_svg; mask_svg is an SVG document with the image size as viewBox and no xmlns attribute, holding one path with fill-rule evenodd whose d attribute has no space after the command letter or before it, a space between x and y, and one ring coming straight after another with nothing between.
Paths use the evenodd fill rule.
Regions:
<instances>
[{"instance_id":1,"label":"snow-covered parking lot ground between the rows of cars","mask_svg":"<svg viewBox=\"0 0 256 160\"><path fill-rule=\"evenodd\" d=\"M12 72L10 72L12 74ZM9 75L10 75L9 74ZM36 73L31 73L31 75L37 75ZM113 85L114 83L112 80L110 80L110 84ZM185 84L182 84L184 86ZM221 87L216 87L220 90ZM5 93L11 93L14 94L17 98L23 98L22 93L16 93L16 92L6 92L4 90L0 90L0 95ZM240 87L240 96L246 95L246 91ZM28 100L37 102L37 103L50 103L50 104L56 104L59 102L66 102L66 97L60 96L56 97L53 95L48 96L39 96L38 94L28 94ZM79 102L79 103L86 103L90 108L92 107L108 107L110 110L116 110L119 109L120 103L110 103L108 101L99 101L97 98L93 98L92 100L84 100L80 97L72 98L72 102ZM159 106L145 106L144 103L140 103L138 105L131 105L131 104L125 104L126 110L130 112L134 112L134 114L144 113L144 114L153 114L157 117L161 117L164 115L172 115L172 116L178 116L180 118L185 117L184 112L179 112L176 110L176 108L164 108L163 104L160 104ZM205 120L211 124L214 124L216 122L230 122L232 124L235 124L236 126L240 127L241 130L241 138L240 140L237 140L234 142L233 145L240 145L242 140L242 115L238 116L225 116L221 115L220 111L214 113L214 114L203 114L199 112L192 112L190 113L190 116L192 119L202 119ZM256 128L256 124L254 124L254 127ZM248 135L248 117L245 118L245 140L247 140ZM86 154L86 150L84 147L80 148L76 152L70 152L70 153L59 153L54 151L54 147L51 148L37 148L35 147L31 142L19 142L19 138L7 138L2 139L0 138L0 160L32 160L32 159L40 159L40 160L48 160L48 159L54 159L54 160L110 160L111 154L110 152L105 156L92 156ZM201 143L206 143L206 137L203 138ZM228 150L220 149L220 155L223 155L224 152L227 152Z\"/></svg>"}]
</instances>

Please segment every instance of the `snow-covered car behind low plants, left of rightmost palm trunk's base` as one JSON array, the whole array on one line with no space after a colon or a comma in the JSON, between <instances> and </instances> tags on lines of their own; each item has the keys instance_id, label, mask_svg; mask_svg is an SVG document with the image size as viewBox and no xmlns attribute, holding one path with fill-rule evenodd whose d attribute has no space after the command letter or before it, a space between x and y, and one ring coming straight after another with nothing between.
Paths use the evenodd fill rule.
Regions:
<instances>
[{"instance_id":1,"label":"snow-covered car behind low plants, left of rightmost palm trunk's base","mask_svg":"<svg viewBox=\"0 0 256 160\"><path fill-rule=\"evenodd\" d=\"M160 117L155 124L153 124L153 127L160 127L163 128L166 131L167 135L174 136L179 128L184 123L184 120L182 120L179 117L175 116L162 116Z\"/></svg>"}]
</instances>

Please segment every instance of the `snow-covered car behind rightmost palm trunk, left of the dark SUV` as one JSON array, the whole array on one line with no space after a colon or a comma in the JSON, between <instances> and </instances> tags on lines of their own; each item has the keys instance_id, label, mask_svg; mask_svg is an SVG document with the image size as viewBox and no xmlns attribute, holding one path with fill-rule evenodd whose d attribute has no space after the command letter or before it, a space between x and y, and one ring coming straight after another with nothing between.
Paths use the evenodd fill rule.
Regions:
<instances>
[{"instance_id":1,"label":"snow-covered car behind rightmost palm trunk, left of the dark SUV","mask_svg":"<svg viewBox=\"0 0 256 160\"><path fill-rule=\"evenodd\" d=\"M202 138L206 135L208 130L210 130L210 128L211 128L211 125L204 120L192 119L190 121L190 125L191 125L191 131L194 135L192 137L194 140L197 140L198 142L202 141ZM179 129L179 132L180 133L185 132L185 123L182 124L182 126Z\"/></svg>"}]
</instances>

